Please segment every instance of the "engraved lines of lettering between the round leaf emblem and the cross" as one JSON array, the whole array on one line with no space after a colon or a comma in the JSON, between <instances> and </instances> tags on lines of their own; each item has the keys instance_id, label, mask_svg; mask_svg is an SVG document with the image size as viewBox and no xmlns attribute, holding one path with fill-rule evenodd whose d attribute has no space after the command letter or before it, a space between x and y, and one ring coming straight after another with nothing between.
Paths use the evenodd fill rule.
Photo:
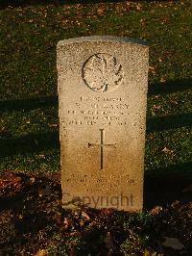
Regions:
<instances>
[{"instance_id":1,"label":"engraved lines of lettering between the round leaf emblem and the cross","mask_svg":"<svg viewBox=\"0 0 192 256\"><path fill-rule=\"evenodd\" d=\"M74 109L66 110L67 118L65 125L128 125L128 115L130 115L130 106L128 95L124 97L84 97L74 102Z\"/></svg>"}]
</instances>

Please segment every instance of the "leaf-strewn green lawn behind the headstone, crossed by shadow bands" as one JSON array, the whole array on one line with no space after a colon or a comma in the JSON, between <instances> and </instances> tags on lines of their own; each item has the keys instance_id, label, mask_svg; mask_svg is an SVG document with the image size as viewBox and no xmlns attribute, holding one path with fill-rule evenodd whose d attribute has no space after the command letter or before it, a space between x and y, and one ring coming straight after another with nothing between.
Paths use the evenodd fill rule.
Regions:
<instances>
[{"instance_id":1,"label":"leaf-strewn green lawn behind the headstone, crossed by shadow bands","mask_svg":"<svg viewBox=\"0 0 192 256\"><path fill-rule=\"evenodd\" d=\"M191 184L191 13L190 1L1 10L0 169L60 171L56 45L64 38L113 35L150 44L148 198L161 193L161 183L167 191Z\"/></svg>"}]
</instances>

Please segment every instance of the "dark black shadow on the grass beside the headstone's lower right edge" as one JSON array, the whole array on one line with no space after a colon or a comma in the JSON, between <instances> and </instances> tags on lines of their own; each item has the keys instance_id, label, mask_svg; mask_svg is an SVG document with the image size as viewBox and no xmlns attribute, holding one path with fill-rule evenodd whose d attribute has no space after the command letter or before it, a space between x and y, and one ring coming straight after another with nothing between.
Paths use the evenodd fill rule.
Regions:
<instances>
[{"instance_id":1,"label":"dark black shadow on the grass beside the headstone's lower right edge","mask_svg":"<svg viewBox=\"0 0 192 256\"><path fill-rule=\"evenodd\" d=\"M192 162L146 170L144 181L144 208L192 200Z\"/></svg>"}]
</instances>

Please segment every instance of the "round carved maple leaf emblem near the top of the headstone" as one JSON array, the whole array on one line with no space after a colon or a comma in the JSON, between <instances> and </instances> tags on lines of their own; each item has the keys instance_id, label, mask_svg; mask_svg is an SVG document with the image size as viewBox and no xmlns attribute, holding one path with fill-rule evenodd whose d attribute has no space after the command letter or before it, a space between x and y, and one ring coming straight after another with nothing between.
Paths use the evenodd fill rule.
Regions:
<instances>
[{"instance_id":1,"label":"round carved maple leaf emblem near the top of the headstone","mask_svg":"<svg viewBox=\"0 0 192 256\"><path fill-rule=\"evenodd\" d=\"M94 54L84 63L83 79L91 90L98 92L115 90L123 80L122 65L109 54Z\"/></svg>"}]
</instances>

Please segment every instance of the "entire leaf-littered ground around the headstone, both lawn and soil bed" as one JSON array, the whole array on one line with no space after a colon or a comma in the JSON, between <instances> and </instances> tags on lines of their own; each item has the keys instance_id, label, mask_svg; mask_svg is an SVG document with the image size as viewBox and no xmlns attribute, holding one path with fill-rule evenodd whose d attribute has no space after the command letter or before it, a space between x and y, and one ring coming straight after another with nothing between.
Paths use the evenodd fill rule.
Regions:
<instances>
[{"instance_id":1,"label":"entire leaf-littered ground around the headstone, both lawn and soil bed","mask_svg":"<svg viewBox=\"0 0 192 256\"><path fill-rule=\"evenodd\" d=\"M183 189L192 184L191 14L189 0L0 10L2 253L110 255L113 247L117 255L179 255L159 245L175 237L185 245L183 255L190 255L192 205L182 203L191 201ZM60 172L56 45L92 35L150 44L144 208L158 204L162 210L129 215L60 208L60 182L54 181ZM39 196L45 188L52 193Z\"/></svg>"}]
</instances>

